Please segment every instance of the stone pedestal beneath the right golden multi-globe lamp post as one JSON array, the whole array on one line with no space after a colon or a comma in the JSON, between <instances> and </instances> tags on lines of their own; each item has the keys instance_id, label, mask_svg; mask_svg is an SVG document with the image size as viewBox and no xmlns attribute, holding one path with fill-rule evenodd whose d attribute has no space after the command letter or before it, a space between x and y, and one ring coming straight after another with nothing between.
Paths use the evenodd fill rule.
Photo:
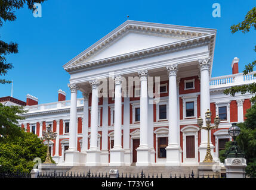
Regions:
<instances>
[{"instance_id":1,"label":"stone pedestal beneath the right golden multi-globe lamp post","mask_svg":"<svg viewBox=\"0 0 256 190\"><path fill-rule=\"evenodd\" d=\"M214 175L214 178L218 178L220 176L220 162L200 162L198 166L198 174L199 177L202 178L212 178Z\"/></svg>"}]
</instances>

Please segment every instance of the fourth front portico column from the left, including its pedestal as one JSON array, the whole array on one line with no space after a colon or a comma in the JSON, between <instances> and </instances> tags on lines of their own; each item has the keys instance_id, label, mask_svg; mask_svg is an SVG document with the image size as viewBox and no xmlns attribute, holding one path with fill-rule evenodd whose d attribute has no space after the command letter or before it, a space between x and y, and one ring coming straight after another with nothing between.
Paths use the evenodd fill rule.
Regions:
<instances>
[{"instance_id":1,"label":"fourth front portico column from the left, including its pedestal","mask_svg":"<svg viewBox=\"0 0 256 190\"><path fill-rule=\"evenodd\" d=\"M150 166L150 147L148 142L148 97L147 97L147 70L139 71L140 76L140 145L137 148L136 166Z\"/></svg>"}]
</instances>

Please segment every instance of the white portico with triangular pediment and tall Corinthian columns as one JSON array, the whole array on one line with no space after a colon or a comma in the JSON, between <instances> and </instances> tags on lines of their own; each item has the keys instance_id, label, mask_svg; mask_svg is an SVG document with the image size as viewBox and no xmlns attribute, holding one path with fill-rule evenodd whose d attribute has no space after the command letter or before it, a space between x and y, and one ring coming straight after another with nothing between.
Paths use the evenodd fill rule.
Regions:
<instances>
[{"instance_id":1,"label":"white portico with triangular pediment and tall Corinthian columns","mask_svg":"<svg viewBox=\"0 0 256 190\"><path fill-rule=\"evenodd\" d=\"M140 130L140 144L136 166L156 165L156 150L153 142L155 128L153 107L161 99L161 81L168 81L168 118L162 125L168 127L166 166L180 166L180 78L199 76L201 79L201 113L210 109L209 75L215 42L215 30L165 24L127 21L103 39L64 65L70 74L70 135L67 165L124 166L132 164L131 130ZM153 97L149 96L149 83L153 78ZM132 78L132 84L129 83ZM140 85L140 97L135 93L134 80ZM125 82L124 82L125 81ZM136 82L135 82L136 83ZM115 96L110 93L113 85ZM195 84L194 84L195 85ZM84 97L81 153L77 146L77 90ZM91 98L90 95L91 94ZM103 96L103 97L101 97ZM127 97L128 96L128 97ZM191 96L198 96L192 94ZM98 124L99 99L103 98L102 128ZM113 101L113 118L109 104ZM138 101L139 120L132 122L131 101ZM91 105L90 105L91 102ZM90 118L88 109L91 106ZM202 114L201 114L202 115ZM183 123L195 122L196 118L183 118ZM190 120L189 120L190 119ZM113 121L113 126L109 121ZM90 122L89 122L90 121ZM90 126L90 127L88 127ZM98 132L101 142L98 143ZM113 147L107 147L109 132L114 132ZM90 141L88 142L88 134ZM201 157L205 157L207 134L201 132ZM100 144L100 147L99 145ZM203 159L202 159L203 160Z\"/></svg>"}]
</instances>

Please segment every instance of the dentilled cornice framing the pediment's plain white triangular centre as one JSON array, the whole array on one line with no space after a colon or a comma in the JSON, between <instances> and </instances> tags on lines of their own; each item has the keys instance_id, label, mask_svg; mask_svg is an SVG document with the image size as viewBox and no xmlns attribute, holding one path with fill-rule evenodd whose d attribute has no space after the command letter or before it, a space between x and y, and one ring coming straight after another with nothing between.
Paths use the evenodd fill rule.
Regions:
<instances>
[{"instance_id":1,"label":"dentilled cornice framing the pediment's plain white triangular centre","mask_svg":"<svg viewBox=\"0 0 256 190\"><path fill-rule=\"evenodd\" d=\"M90 59L95 54L102 52L104 49L115 43L118 39L125 36L125 34L129 32L148 34L152 36L172 37L179 39L180 41L177 43L169 43L164 46L156 46L149 49L90 62ZM94 43L94 45L88 47L88 49L84 50L84 52L80 53L78 56L67 62L67 64L63 65L63 68L67 72L72 72L81 68L87 68L88 66L106 64L115 61L124 61L125 59L146 56L149 53L161 52L168 49L175 50L178 49L178 47L186 46L187 43L192 44L195 42L202 42L206 39L214 38L215 32L216 31L214 29L126 21L121 26L107 34L105 37L98 40L98 42Z\"/></svg>"}]
</instances>

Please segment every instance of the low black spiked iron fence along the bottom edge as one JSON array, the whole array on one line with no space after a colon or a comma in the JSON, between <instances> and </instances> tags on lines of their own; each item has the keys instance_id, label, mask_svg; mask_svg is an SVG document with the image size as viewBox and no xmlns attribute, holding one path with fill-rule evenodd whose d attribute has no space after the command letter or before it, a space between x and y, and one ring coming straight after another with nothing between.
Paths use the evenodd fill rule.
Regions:
<instances>
[{"instance_id":1,"label":"low black spiked iron fence along the bottom edge","mask_svg":"<svg viewBox=\"0 0 256 190\"><path fill-rule=\"evenodd\" d=\"M40 172L38 173L37 178L110 178L110 175L107 173L91 173L90 170L88 172L67 172L67 173L61 173L61 172ZM118 173L116 176L112 177L112 178L163 178L162 173L159 175L158 173L144 173L143 170L141 170L141 173ZM202 175L199 176L195 175L193 170L191 173L189 173L189 175L181 175L181 174L176 174L174 173L174 175L172 175L170 173L169 178L220 178L220 176L214 176L214 175Z\"/></svg>"}]
</instances>

